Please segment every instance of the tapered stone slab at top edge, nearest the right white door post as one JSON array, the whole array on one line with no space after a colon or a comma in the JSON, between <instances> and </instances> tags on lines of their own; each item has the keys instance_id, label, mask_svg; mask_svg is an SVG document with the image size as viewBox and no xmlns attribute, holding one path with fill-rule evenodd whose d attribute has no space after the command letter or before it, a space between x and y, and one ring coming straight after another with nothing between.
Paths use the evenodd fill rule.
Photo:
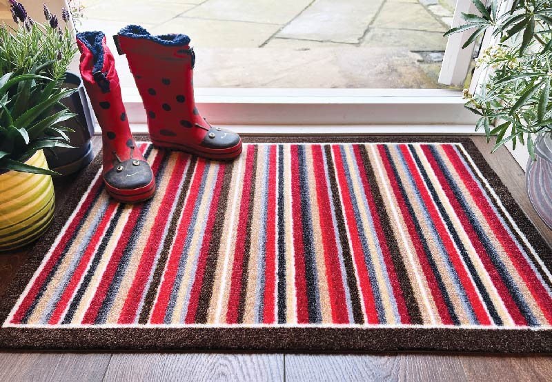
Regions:
<instances>
[{"instance_id":1,"label":"tapered stone slab at top edge, nearest the right white door post","mask_svg":"<svg viewBox=\"0 0 552 382\"><path fill-rule=\"evenodd\" d=\"M444 32L445 27L420 4L386 2L374 28L413 29Z\"/></svg>"}]
</instances>

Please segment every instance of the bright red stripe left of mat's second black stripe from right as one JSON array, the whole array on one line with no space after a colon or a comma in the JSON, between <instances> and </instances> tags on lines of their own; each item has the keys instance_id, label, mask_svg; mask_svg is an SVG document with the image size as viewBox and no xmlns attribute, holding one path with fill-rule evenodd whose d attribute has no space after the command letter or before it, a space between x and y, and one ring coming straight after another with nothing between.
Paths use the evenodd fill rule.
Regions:
<instances>
[{"instance_id":1,"label":"bright red stripe left of mat's second black stripe from right","mask_svg":"<svg viewBox=\"0 0 552 382\"><path fill-rule=\"evenodd\" d=\"M458 278L460 279L460 283L462 283L462 288L464 289L464 292L466 292L466 296L468 297L473 311L475 312L477 321L479 321L482 325L491 325L489 314L487 314L480 296L475 290L471 277L468 272L466 272L464 263L462 263L462 259L460 259L460 253L455 247L449 232L446 230L443 220L439 212L437 212L437 208L435 208L435 205L433 204L433 199L431 198L424 181L422 181L422 177L420 176L420 172L414 163L411 152L408 150L408 145L400 145L400 150L402 151L403 157L408 164L408 169L411 172L417 189L420 191L420 195L431 217L431 221L435 224L435 230L440 234L439 236L443 241L445 252L449 255L451 263L453 263Z\"/></svg>"}]
</instances>

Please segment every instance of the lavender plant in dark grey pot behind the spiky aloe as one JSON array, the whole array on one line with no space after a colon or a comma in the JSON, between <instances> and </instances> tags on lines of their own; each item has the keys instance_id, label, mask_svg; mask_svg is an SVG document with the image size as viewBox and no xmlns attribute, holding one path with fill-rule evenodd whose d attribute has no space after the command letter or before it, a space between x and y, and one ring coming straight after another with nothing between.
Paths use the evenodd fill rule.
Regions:
<instances>
[{"instance_id":1,"label":"lavender plant in dark grey pot behind the spiky aloe","mask_svg":"<svg viewBox=\"0 0 552 382\"><path fill-rule=\"evenodd\" d=\"M41 66L51 62L44 66L43 74L55 81L63 81L65 88L76 89L69 97L61 100L62 105L55 106L56 111L68 108L76 114L75 118L61 123L70 129L66 134L75 148L52 148L46 150L45 154L52 170L62 175L77 172L92 161L91 138L94 124L81 78L78 74L67 72L77 52L71 14L66 8L62 8L58 18L57 14L44 5L46 23L41 24L34 22L26 14L22 14L24 19L21 20L14 12L19 8L24 10L23 5L14 0L10 0L10 3L14 21L19 28L4 28L1 31L0 43L4 49L3 60L0 62L3 68L0 70L21 74L27 73L32 65ZM70 5L80 12L79 8L75 8L75 1L70 2ZM23 31L26 33L21 33ZM24 44L30 44L28 50L19 50ZM23 54L28 54L28 57Z\"/></svg>"}]
</instances>

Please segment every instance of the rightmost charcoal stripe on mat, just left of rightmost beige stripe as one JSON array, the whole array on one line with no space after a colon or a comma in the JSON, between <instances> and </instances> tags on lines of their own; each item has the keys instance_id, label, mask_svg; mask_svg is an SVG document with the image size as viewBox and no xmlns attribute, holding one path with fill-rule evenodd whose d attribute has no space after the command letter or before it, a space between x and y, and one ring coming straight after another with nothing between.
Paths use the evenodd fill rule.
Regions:
<instances>
[{"instance_id":1,"label":"rightmost charcoal stripe on mat, just left of rightmost beige stripe","mask_svg":"<svg viewBox=\"0 0 552 382\"><path fill-rule=\"evenodd\" d=\"M458 189L458 186L453 179L453 176L451 172L449 172L449 169L446 168L446 164L444 163L443 159L440 157L440 154L437 152L437 149L433 147L433 145L428 146L431 154L433 155L433 158L435 159L435 162L439 166L440 170L443 173L444 178L446 179L447 183L449 183L449 186L456 197L456 200L460 204L460 207L462 210L464 210L464 213L466 214L466 218L469 220L473 230L475 231L475 234L477 234L477 237L480 239L481 244L483 245L484 250L489 255L489 259L491 259L491 263L493 263L495 269L497 270L498 274L500 275L500 278L504 282L504 285L506 285L506 289L508 289L510 296L512 297L513 301L517 305L517 308L520 310L520 313L522 316L524 316L524 319L526 319L527 323L531 326L538 325L538 320L533 315L533 312L531 312L531 308L529 308L529 305L525 302L521 292L517 289L514 281L511 278L511 275L508 273L508 270L504 267L504 264L502 261L500 261L500 258L495 250L493 248L493 243L489 240L489 237L487 237L486 232L484 232L483 228L481 227L479 221L477 221L477 218L473 215L473 212L470 210L469 205L466 203L466 200L464 199L464 196L462 195L462 192Z\"/></svg>"}]
</instances>

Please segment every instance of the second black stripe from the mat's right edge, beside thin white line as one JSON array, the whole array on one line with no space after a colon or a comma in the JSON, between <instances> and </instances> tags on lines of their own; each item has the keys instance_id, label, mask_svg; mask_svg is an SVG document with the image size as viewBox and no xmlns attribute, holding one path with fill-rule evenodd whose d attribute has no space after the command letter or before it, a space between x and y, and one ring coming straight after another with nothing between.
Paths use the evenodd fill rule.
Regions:
<instances>
[{"instance_id":1,"label":"second black stripe from the mat's right edge, beside thin white line","mask_svg":"<svg viewBox=\"0 0 552 382\"><path fill-rule=\"evenodd\" d=\"M469 257L468 251L466 250L466 247L464 247L464 243L462 243L462 239L460 239L460 236L458 235L458 232L451 221L451 217L449 216L448 212L446 212L444 205L441 199L439 198L437 191L435 190L435 187L433 187L433 183L431 182L431 179L429 179L426 169L424 168L424 165L422 165L422 161L420 161L420 157L418 157L418 154L413 145L408 145L408 148L412 156L414 157L414 161L416 162L418 168L420 169L420 174L422 174L422 178L426 182L427 188L431 193L431 197L433 198L435 205L437 205L437 209L439 210L442 216L442 219L446 224L446 228L449 229L449 232L451 233L451 237L453 238L453 241L456 247L458 248L460 255L462 256L464 263L466 263L466 267L468 268L469 274L471 275L473 282L477 287L477 290L481 294L481 298L483 299L487 309L489 310L489 314L491 315L491 318L493 319L496 325L502 325L503 324L502 319L500 318L500 315L498 314L495 308L495 305L493 304L493 300L491 299L491 296L489 296L489 293L487 292L485 285L481 281L481 278L479 277L477 270L475 270L475 266L473 265Z\"/></svg>"}]
</instances>

